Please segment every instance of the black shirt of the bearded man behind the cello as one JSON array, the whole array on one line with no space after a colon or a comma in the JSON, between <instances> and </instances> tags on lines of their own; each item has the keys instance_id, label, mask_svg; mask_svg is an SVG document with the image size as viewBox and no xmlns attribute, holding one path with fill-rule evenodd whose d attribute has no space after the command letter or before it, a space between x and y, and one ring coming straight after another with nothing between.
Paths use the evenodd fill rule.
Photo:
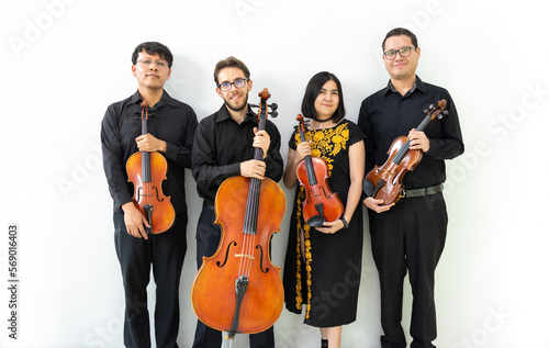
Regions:
<instances>
[{"instance_id":1,"label":"black shirt of the bearded man behind the cello","mask_svg":"<svg viewBox=\"0 0 549 348\"><path fill-rule=\"evenodd\" d=\"M254 159L254 127L257 117L248 115L240 124L231 117L225 104L214 114L200 121L192 148L192 175L197 191L208 204L213 204L222 182L240 175L240 162ZM280 133L267 120L265 126L270 146L264 159L266 177L278 182L282 178L283 160L280 156Z\"/></svg>"}]
</instances>

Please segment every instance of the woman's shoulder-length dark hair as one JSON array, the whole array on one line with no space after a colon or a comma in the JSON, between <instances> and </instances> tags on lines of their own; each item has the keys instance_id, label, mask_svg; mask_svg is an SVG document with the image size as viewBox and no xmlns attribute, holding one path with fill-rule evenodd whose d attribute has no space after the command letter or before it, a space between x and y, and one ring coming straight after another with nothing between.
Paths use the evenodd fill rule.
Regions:
<instances>
[{"instance_id":1,"label":"woman's shoulder-length dark hair","mask_svg":"<svg viewBox=\"0 0 549 348\"><path fill-rule=\"evenodd\" d=\"M339 122L343 117L345 117L345 105L344 105L341 83L334 74L328 71L321 71L315 76L313 76L309 81L307 87L305 89L305 96L303 96L303 101L301 102L301 112L303 113L303 116L313 120L316 119L316 110L314 109L314 101L316 100L316 97L318 97L318 94L321 93L323 86L329 80L336 82L337 92L339 96L339 104L337 105L337 109L334 112L333 122Z\"/></svg>"}]
</instances>

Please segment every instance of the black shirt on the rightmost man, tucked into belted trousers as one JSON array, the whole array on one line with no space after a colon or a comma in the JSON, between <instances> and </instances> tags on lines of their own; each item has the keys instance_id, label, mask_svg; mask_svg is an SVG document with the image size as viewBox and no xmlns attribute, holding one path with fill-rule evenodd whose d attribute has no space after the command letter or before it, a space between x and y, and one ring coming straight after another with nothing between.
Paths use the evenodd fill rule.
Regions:
<instances>
[{"instance_id":1,"label":"black shirt on the rightmost man, tucked into belted trousers","mask_svg":"<svg viewBox=\"0 0 549 348\"><path fill-rule=\"evenodd\" d=\"M407 136L412 128L417 128L425 119L424 110L446 99L448 111L442 119L435 119L424 132L429 139L429 150L422 161L403 179L407 189L426 188L446 180L445 159L455 158L463 153L463 141L459 126L458 112L450 93L444 88L424 83L416 77L414 87L402 96L391 85L371 94L362 101L358 125L366 134L366 172L374 165L382 166L392 142Z\"/></svg>"}]
</instances>

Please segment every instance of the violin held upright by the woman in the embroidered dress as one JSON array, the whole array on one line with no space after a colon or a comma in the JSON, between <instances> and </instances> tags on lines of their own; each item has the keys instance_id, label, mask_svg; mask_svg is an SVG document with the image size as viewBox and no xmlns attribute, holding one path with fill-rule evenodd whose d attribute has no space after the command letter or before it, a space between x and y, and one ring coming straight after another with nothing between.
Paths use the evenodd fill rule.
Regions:
<instances>
[{"instance_id":1,"label":"violin held upright by the woman in the embroidered dress","mask_svg":"<svg viewBox=\"0 0 549 348\"><path fill-rule=\"evenodd\" d=\"M305 139L305 122L302 115L299 122L301 143ZM320 227L324 222L334 222L344 214L344 206L337 193L328 188L328 165L321 157L305 156L295 168L295 175L306 192L303 201L303 218L311 227Z\"/></svg>"}]
</instances>

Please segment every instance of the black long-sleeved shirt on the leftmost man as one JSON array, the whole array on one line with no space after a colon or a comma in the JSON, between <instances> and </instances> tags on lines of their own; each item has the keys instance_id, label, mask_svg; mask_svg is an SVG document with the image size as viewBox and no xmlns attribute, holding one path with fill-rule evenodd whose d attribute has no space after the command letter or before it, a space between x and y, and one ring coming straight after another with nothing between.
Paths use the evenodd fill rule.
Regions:
<instances>
[{"instance_id":1,"label":"black long-sleeved shirt on the leftmost man","mask_svg":"<svg viewBox=\"0 0 549 348\"><path fill-rule=\"evenodd\" d=\"M120 102L111 104L101 123L101 144L103 168L109 183L109 191L114 201L114 210L132 201L133 183L127 182L126 161L138 151L135 138L142 134L139 92ZM164 91L160 101L153 106L154 113L147 121L148 133L167 145L164 157L168 162L167 180L163 182L164 195L171 197L176 213L187 210L184 200L184 168L191 168L191 149L197 114Z\"/></svg>"}]
</instances>

